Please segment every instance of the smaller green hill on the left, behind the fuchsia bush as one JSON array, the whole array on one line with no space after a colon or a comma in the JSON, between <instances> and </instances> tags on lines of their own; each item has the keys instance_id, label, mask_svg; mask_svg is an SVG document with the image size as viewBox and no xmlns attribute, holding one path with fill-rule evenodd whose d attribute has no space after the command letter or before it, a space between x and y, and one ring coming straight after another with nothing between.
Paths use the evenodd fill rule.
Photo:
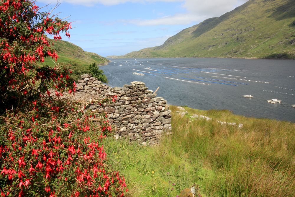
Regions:
<instances>
[{"instance_id":1,"label":"smaller green hill on the left, behind the fuchsia bush","mask_svg":"<svg viewBox=\"0 0 295 197\"><path fill-rule=\"evenodd\" d=\"M73 43L63 41L63 40L52 40L54 42L53 48L58 51L58 61L61 62L68 62L68 61L75 61L76 63L82 66L89 66L89 64L96 62L96 65L103 65L109 62L108 59L101 57L96 53L91 53L87 51L83 51L81 47L74 45ZM54 63L53 59L47 57L45 62L47 65L53 66Z\"/></svg>"}]
</instances>

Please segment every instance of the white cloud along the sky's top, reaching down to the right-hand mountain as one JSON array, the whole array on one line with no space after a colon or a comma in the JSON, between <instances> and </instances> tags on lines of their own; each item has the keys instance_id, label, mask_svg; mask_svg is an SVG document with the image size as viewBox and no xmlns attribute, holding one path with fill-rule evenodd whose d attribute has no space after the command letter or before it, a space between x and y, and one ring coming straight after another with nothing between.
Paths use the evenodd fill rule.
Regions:
<instances>
[{"instance_id":1,"label":"white cloud along the sky's top, reaching down to the right-hand mountain","mask_svg":"<svg viewBox=\"0 0 295 197\"><path fill-rule=\"evenodd\" d=\"M54 0L39 0L46 3L56 3ZM117 22L131 23L140 26L151 25L187 25L192 22L201 22L210 17L219 17L220 15L231 11L236 6L245 3L248 0L61 0L71 4L80 4L90 6L93 4L103 4L112 6L124 4L127 2L133 3L148 3L148 2L182 2L182 7L186 9L185 13L176 13L172 16L166 16L156 19L132 19L120 20ZM113 25L113 23L111 24Z\"/></svg>"}]
</instances>

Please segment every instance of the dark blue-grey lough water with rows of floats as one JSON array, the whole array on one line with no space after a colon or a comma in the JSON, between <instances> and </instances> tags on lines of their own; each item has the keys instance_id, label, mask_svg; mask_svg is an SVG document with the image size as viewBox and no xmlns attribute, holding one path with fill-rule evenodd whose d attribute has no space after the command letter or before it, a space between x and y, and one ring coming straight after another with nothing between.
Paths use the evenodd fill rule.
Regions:
<instances>
[{"instance_id":1,"label":"dark blue-grey lough water with rows of floats","mask_svg":"<svg viewBox=\"0 0 295 197\"><path fill-rule=\"evenodd\" d=\"M158 96L164 97L172 105L186 105L201 110L228 109L235 114L248 117L295 121L295 108L291 107L295 104L295 77L289 77L295 76L295 60L234 58L111 60L109 65L100 66L100 69L104 71L109 80L108 84L112 87L122 87L132 81L141 81L153 91L160 87ZM119 66L121 64L122 66ZM149 67L156 71L144 69ZM140 71L132 69L150 73L139 76L132 72ZM253 98L244 98L242 95L253 95ZM266 102L273 98L282 102L277 104Z\"/></svg>"}]
</instances>

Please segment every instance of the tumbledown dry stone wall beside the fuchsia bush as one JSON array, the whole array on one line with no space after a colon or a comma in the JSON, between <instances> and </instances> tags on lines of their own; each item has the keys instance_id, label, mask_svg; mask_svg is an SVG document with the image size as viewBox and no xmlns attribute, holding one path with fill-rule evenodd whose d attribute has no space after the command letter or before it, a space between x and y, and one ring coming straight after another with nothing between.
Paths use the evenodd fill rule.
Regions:
<instances>
[{"instance_id":1,"label":"tumbledown dry stone wall beside the fuchsia bush","mask_svg":"<svg viewBox=\"0 0 295 197\"><path fill-rule=\"evenodd\" d=\"M103 99L117 95L117 102L111 105L89 104L85 110L105 111L109 122L116 126L116 139L128 138L142 145L158 142L164 134L171 133L171 110L166 100L156 97L143 82L131 82L123 87L109 87L90 74L81 75L77 91L90 94L91 99Z\"/></svg>"}]
</instances>

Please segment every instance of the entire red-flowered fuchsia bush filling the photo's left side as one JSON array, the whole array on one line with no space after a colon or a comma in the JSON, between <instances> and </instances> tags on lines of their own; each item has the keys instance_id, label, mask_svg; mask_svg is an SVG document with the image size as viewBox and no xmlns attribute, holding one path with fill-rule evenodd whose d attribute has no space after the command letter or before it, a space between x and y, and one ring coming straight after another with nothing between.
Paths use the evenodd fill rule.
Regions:
<instances>
[{"instance_id":1,"label":"entire red-flowered fuchsia bush filling the photo's left side","mask_svg":"<svg viewBox=\"0 0 295 197\"><path fill-rule=\"evenodd\" d=\"M124 177L105 164L106 115L61 98L75 92L67 68L37 64L58 58L45 33L70 36L71 24L33 2L0 0L0 195L124 196Z\"/></svg>"}]
</instances>

